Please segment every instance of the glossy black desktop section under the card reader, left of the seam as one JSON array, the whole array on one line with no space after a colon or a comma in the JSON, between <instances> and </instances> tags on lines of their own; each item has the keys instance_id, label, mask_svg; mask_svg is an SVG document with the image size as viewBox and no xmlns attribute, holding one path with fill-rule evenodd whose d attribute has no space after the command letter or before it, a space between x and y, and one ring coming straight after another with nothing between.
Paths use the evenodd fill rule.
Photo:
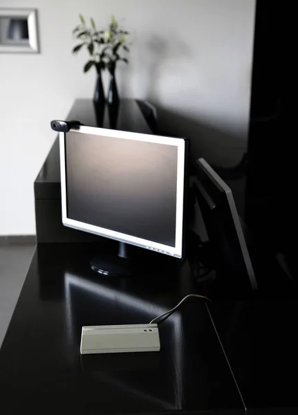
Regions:
<instances>
[{"instance_id":1,"label":"glossy black desktop section under the card reader, left of the seam","mask_svg":"<svg viewBox=\"0 0 298 415\"><path fill-rule=\"evenodd\" d=\"M243 414L201 300L160 324L160 352L80 356L83 325L147 323L196 291L187 263L97 275L89 260L105 248L39 244L1 347L3 414Z\"/></svg>"}]
</instances>

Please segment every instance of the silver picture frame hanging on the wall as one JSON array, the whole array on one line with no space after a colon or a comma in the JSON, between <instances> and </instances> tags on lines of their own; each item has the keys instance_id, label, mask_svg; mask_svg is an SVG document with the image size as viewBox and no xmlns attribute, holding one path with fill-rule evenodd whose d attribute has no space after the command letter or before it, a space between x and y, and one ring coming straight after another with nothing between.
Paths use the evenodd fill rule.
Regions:
<instances>
[{"instance_id":1,"label":"silver picture frame hanging on the wall","mask_svg":"<svg viewBox=\"0 0 298 415\"><path fill-rule=\"evenodd\" d=\"M0 53L39 53L36 9L0 8Z\"/></svg>"}]
</instances>

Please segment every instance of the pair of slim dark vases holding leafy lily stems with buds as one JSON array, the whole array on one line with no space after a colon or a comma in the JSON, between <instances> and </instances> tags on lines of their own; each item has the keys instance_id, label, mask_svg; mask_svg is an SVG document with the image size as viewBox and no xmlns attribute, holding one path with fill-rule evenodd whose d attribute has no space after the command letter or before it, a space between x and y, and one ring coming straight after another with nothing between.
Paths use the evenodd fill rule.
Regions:
<instances>
[{"instance_id":1,"label":"pair of slim dark vases holding leafy lily stems with buds","mask_svg":"<svg viewBox=\"0 0 298 415\"><path fill-rule=\"evenodd\" d=\"M84 66L84 73L88 72L93 66L96 69L97 80L93 101L97 107L104 108L105 102L108 102L112 107L118 107L119 95L115 81L115 69L117 62L129 63L127 57L123 56L123 53L129 53L129 46L127 45L129 32L119 28L114 16L111 17L109 28L106 30L97 30L92 17L90 19L90 27L87 26L82 15L79 17L80 24L74 28L73 35L80 41L80 44L73 48L73 53L78 53L85 47L89 53L89 61ZM106 69L110 73L107 98L104 97L102 85L102 71Z\"/></svg>"}]
</instances>

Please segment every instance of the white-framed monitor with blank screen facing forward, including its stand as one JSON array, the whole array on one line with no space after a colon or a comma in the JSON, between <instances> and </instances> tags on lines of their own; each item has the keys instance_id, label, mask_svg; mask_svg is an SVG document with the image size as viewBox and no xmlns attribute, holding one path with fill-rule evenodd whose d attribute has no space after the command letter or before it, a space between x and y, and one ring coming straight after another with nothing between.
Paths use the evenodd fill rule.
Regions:
<instances>
[{"instance_id":1,"label":"white-framed monitor with blank screen facing forward, including its stand","mask_svg":"<svg viewBox=\"0 0 298 415\"><path fill-rule=\"evenodd\" d=\"M62 223L120 242L94 270L130 275L126 243L183 257L186 140L80 125L59 144Z\"/></svg>"}]
</instances>

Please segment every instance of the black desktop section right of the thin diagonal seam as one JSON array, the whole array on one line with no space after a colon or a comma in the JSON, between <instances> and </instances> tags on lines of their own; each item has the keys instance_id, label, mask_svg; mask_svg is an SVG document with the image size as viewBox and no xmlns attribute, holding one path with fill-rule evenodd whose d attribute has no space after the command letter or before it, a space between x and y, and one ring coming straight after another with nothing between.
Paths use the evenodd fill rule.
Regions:
<instances>
[{"instance_id":1,"label":"black desktop section right of the thin diagonal seam","mask_svg":"<svg viewBox=\"0 0 298 415\"><path fill-rule=\"evenodd\" d=\"M208 305L250 414L298 414L298 301Z\"/></svg>"}]
</instances>

